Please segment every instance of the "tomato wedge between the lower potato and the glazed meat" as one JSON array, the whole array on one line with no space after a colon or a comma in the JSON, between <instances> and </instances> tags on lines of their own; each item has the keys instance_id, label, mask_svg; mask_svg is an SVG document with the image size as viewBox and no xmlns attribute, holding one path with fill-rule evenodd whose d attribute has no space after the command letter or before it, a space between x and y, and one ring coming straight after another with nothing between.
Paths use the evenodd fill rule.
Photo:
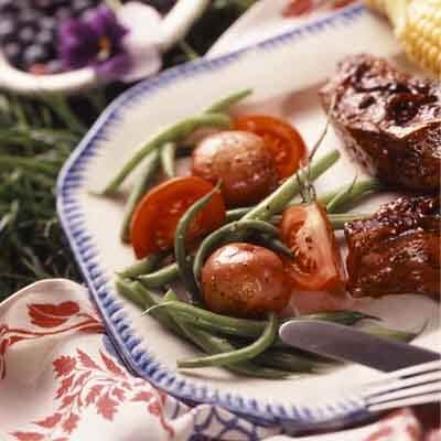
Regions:
<instances>
[{"instance_id":1,"label":"tomato wedge between the lower potato and the glazed meat","mask_svg":"<svg viewBox=\"0 0 441 441\"><path fill-rule=\"evenodd\" d=\"M294 258L284 259L292 286L304 291L338 291L344 270L334 232L325 209L316 202L283 212L281 238Z\"/></svg>"}]
</instances>

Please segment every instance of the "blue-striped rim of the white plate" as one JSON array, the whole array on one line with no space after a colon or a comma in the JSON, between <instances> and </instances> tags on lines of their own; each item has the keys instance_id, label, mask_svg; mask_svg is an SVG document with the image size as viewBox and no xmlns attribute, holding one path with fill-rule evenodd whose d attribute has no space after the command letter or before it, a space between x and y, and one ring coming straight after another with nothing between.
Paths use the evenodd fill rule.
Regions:
<instances>
[{"instance_id":1,"label":"blue-striped rim of the white plate","mask_svg":"<svg viewBox=\"0 0 441 441\"><path fill-rule=\"evenodd\" d=\"M88 160L97 152L97 141L106 139L106 131L118 123L121 114L130 111L139 99L148 99L157 90L168 87L187 76L198 76L238 62L250 50L262 54L278 46L290 44L311 35L320 34L329 28L344 26L366 12L363 6L353 6L322 19L300 25L293 31L250 45L243 50L212 60L202 60L162 72L131 87L115 99L90 128L86 137L71 154L57 181L57 212L74 256L92 291L93 298L106 324L109 336L129 369L149 380L153 386L187 404L209 404L220 406L232 412L251 419L260 424L282 423L288 431L318 428L333 421L338 427L355 423L372 416L363 400L344 396L327 404L298 406L275 405L254 398L209 389L170 372L147 351L139 347L141 340L126 320L123 305L110 284L110 279L100 268L97 249L92 234L85 227L75 191L82 185ZM336 402L337 401L337 402Z\"/></svg>"}]
</instances>

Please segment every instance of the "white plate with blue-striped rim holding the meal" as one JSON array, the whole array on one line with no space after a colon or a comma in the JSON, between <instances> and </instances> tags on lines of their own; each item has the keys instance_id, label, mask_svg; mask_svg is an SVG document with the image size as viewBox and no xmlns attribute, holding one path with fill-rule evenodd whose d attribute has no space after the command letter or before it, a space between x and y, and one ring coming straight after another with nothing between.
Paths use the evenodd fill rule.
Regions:
<instances>
[{"instance_id":1,"label":"white plate with blue-striped rim holding the meal","mask_svg":"<svg viewBox=\"0 0 441 441\"><path fill-rule=\"evenodd\" d=\"M388 26L355 6L245 51L176 67L119 97L73 153L60 176L58 214L109 333L133 372L182 399L217 404L266 422L288 420L304 427L366 417L363 402L351 390L379 374L362 366L277 381L237 377L217 368L178 372L176 359L197 352L153 319L141 318L139 310L116 293L114 272L133 261L132 250L119 240L123 203L89 193L103 187L158 129L247 87L255 94L241 110L281 115L311 144L324 123L319 85L337 60L362 51L386 56L398 53ZM322 153L338 144L330 133ZM356 165L343 158L319 180L318 191L351 182L355 172ZM126 190L131 182L125 184ZM376 198L361 209L373 209L379 203ZM362 303L361 308L383 316L389 326L415 331L429 321L416 343L438 347L438 305L433 301L406 295Z\"/></svg>"}]
</instances>

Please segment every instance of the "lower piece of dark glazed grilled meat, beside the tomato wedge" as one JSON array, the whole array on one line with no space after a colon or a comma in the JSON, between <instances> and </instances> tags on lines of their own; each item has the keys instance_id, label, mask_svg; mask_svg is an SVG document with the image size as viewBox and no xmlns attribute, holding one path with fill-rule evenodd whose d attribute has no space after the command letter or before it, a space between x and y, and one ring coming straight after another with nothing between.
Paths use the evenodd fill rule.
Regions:
<instances>
[{"instance_id":1,"label":"lower piece of dark glazed grilled meat, beside the tomato wedge","mask_svg":"<svg viewBox=\"0 0 441 441\"><path fill-rule=\"evenodd\" d=\"M354 297L440 294L440 200L399 197L345 225L348 290Z\"/></svg>"}]
</instances>

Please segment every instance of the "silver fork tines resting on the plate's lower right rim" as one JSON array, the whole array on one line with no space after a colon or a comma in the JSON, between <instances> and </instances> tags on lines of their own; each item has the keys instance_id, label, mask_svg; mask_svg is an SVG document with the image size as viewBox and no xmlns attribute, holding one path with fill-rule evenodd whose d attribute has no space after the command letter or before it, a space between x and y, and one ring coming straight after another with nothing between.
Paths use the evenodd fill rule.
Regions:
<instances>
[{"instance_id":1,"label":"silver fork tines resting on the plate's lower right rim","mask_svg":"<svg viewBox=\"0 0 441 441\"><path fill-rule=\"evenodd\" d=\"M441 401L441 358L386 374L359 394L370 412Z\"/></svg>"}]
</instances>

